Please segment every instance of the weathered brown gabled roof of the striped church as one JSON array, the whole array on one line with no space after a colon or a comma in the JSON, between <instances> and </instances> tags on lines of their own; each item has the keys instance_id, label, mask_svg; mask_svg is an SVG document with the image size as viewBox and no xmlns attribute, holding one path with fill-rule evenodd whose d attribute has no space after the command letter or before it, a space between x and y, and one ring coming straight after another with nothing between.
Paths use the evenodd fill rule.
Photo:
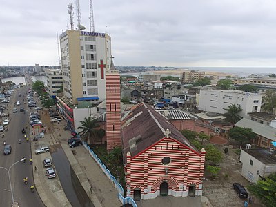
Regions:
<instances>
[{"instance_id":1,"label":"weathered brown gabled roof of the striped church","mask_svg":"<svg viewBox=\"0 0 276 207\"><path fill-rule=\"evenodd\" d=\"M134 157L157 143L166 137L167 129L171 132L170 138L199 153L166 117L155 111L152 106L140 103L132 108L132 111L121 123L124 157L127 152Z\"/></svg>"}]
</instances>

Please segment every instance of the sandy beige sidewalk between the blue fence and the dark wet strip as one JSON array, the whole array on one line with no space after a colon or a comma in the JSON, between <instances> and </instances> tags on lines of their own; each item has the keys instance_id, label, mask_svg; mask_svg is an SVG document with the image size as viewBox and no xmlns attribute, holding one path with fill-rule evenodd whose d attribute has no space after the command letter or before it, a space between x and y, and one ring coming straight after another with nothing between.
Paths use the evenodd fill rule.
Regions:
<instances>
[{"instance_id":1,"label":"sandy beige sidewalk between the blue fence and the dark wet strip","mask_svg":"<svg viewBox=\"0 0 276 207\"><path fill-rule=\"evenodd\" d=\"M45 138L38 141L39 145L43 142L48 146L55 144L61 145L66 157L68 157L68 161L70 162L72 169L95 207L122 206L121 202L117 198L118 193L116 188L111 184L109 179L102 172L101 168L86 151L86 149L83 146L76 148L70 148L68 146L67 140L70 138L71 134L70 131L65 131L63 129L66 121L63 119L59 124L50 124L50 116L45 112L46 111L44 110L43 115L41 115L41 121L43 122L43 126L47 128L47 132L45 134ZM42 112L39 113L42 114ZM44 153L44 155L45 154L48 153ZM43 159L41 160L43 161ZM41 160L40 162L42 165ZM41 166L41 168L43 167ZM62 204L64 198L61 198L58 193L55 193L55 195L57 195L57 198L60 200L59 204ZM55 201L53 204L56 204ZM64 205L62 204L62 206Z\"/></svg>"}]
</instances>

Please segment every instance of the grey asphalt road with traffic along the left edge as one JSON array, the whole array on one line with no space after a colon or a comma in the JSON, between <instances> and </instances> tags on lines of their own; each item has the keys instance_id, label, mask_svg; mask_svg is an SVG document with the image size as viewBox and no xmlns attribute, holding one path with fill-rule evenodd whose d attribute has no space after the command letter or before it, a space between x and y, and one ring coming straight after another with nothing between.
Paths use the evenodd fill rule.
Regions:
<instances>
[{"instance_id":1,"label":"grey asphalt road with traffic along the left edge","mask_svg":"<svg viewBox=\"0 0 276 207\"><path fill-rule=\"evenodd\" d=\"M21 97L19 97L19 92L21 92ZM29 164L29 159L31 156L30 142L27 143L24 139L21 130L28 125L27 136L30 137L30 124L28 120L28 106L24 104L23 99L26 99L27 88L19 88L14 90L14 94L10 97L10 103L8 103L10 123L8 125L8 131L4 132L4 137L0 138L0 167L10 168L12 164L19 161L23 157L26 157L26 163L19 162L14 164L10 168L10 180L12 184L12 191L14 195L14 201L19 203L20 207L39 207L44 206L39 195L36 191L31 192L30 186L34 184L32 175L32 166ZM20 101L20 106L15 106L17 108L17 113L12 113L12 108L14 108L14 103ZM4 103L0 103L3 105ZM26 113L20 112L19 108L23 107ZM7 112L7 111L5 111ZM4 120L3 117L1 120ZM2 135L0 134L0 137ZM18 139L21 139L21 144L19 144ZM7 144L12 146L12 153L10 155L3 155L3 141L6 140ZM12 204L12 194L10 192L10 182L8 178L8 172L0 168L0 206L7 207ZM28 185L23 183L23 178L28 177Z\"/></svg>"}]
</instances>

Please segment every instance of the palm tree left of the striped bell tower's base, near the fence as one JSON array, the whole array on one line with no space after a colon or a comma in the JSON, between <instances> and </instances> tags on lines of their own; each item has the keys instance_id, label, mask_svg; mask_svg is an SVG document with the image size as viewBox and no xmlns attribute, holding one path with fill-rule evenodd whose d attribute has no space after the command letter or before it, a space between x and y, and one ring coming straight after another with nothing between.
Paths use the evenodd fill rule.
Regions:
<instances>
[{"instance_id":1,"label":"palm tree left of the striped bell tower's base, near the fence","mask_svg":"<svg viewBox=\"0 0 276 207\"><path fill-rule=\"evenodd\" d=\"M99 124L97 124L97 119L85 117L84 120L81 121L81 126L78 127L78 129L81 130L81 132L79 132L81 139L86 142L89 141L89 143L94 143L95 138L97 137L99 132L99 130L96 129L97 127L99 127Z\"/></svg>"}]
</instances>

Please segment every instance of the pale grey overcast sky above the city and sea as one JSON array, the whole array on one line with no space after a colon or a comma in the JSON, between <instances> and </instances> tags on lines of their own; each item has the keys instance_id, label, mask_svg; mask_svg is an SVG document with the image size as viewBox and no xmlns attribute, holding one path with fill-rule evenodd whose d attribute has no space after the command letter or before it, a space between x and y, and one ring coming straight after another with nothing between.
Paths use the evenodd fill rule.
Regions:
<instances>
[{"instance_id":1,"label":"pale grey overcast sky above the city and sea","mask_svg":"<svg viewBox=\"0 0 276 207\"><path fill-rule=\"evenodd\" d=\"M1 1L0 65L58 65L70 2ZM89 0L80 4L89 31ZM93 10L117 66L276 65L275 0L94 0Z\"/></svg>"}]
</instances>

